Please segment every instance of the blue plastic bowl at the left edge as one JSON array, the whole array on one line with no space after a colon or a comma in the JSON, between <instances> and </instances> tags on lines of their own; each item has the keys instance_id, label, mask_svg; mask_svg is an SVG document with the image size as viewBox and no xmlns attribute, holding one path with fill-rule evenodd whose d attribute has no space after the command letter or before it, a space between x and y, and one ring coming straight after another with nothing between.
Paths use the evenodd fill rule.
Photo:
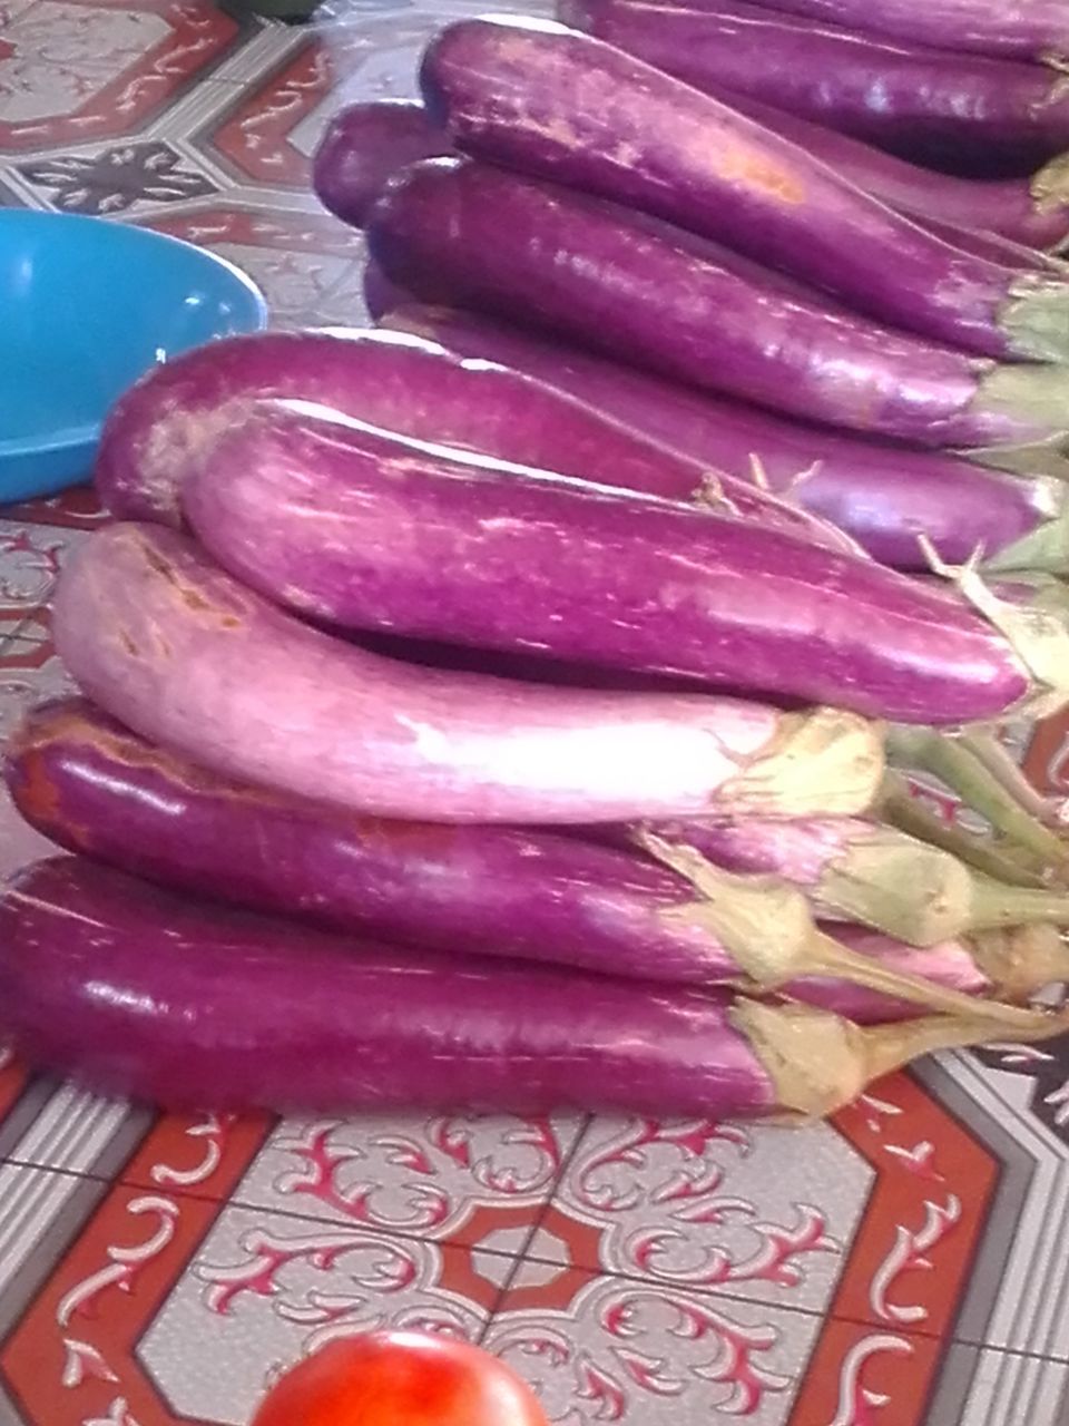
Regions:
<instances>
[{"instance_id":1,"label":"blue plastic bowl at the left edge","mask_svg":"<svg viewBox=\"0 0 1069 1426\"><path fill-rule=\"evenodd\" d=\"M0 210L0 502L84 481L108 408L155 362L265 325L257 287L212 252Z\"/></svg>"}]
</instances>

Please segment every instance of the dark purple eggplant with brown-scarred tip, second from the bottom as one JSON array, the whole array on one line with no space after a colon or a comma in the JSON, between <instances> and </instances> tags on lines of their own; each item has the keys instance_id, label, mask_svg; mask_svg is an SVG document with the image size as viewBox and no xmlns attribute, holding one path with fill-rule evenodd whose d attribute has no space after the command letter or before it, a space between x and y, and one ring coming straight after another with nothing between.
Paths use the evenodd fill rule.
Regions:
<instances>
[{"instance_id":1,"label":"dark purple eggplant with brown-scarred tip, second from the bottom","mask_svg":"<svg viewBox=\"0 0 1069 1426\"><path fill-rule=\"evenodd\" d=\"M70 851L324 930L664 984L748 978L812 995L798 977L830 994L845 977L867 1020L904 997L914 1012L972 1011L945 990L991 990L964 947L925 957L865 941L852 954L767 877L704 868L696 893L633 848L345 813L208 773L78 700L31 714L4 771L23 816Z\"/></svg>"}]
</instances>

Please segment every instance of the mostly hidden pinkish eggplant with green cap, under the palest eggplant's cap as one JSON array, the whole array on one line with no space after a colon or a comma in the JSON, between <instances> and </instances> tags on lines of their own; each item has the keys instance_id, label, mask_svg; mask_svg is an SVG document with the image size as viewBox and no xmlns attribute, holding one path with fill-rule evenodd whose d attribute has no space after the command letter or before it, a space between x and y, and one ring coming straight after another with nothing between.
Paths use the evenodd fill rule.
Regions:
<instances>
[{"instance_id":1,"label":"mostly hidden pinkish eggplant with green cap, under the palest eggplant's cap","mask_svg":"<svg viewBox=\"0 0 1069 1426\"><path fill-rule=\"evenodd\" d=\"M650 833L728 871L783 877L805 891L818 917L858 921L912 945L1013 925L1069 925L1068 893L1001 886L926 841L859 817L657 823Z\"/></svg>"}]
</instances>

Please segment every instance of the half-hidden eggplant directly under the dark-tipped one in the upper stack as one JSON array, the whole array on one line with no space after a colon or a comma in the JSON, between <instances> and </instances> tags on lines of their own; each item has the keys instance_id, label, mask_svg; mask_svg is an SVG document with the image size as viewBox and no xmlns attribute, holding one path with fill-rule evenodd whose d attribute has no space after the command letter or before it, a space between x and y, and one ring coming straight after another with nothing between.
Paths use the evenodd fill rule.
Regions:
<instances>
[{"instance_id":1,"label":"half-hidden eggplant directly under the dark-tipped one in the upper stack","mask_svg":"<svg viewBox=\"0 0 1069 1426\"><path fill-rule=\"evenodd\" d=\"M738 478L757 473L781 498L838 525L882 565L928 570L925 536L951 565L983 549L999 568L1069 572L1069 485L1058 476L998 475L941 451L787 421L448 308L402 307L383 325L557 385Z\"/></svg>"}]
</instances>

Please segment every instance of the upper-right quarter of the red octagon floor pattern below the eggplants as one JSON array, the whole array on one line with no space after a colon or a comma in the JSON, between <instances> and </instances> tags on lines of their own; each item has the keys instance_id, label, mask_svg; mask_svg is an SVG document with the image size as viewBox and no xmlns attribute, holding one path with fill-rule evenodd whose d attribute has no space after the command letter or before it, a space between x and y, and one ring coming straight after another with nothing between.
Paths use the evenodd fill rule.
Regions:
<instances>
[{"instance_id":1,"label":"upper-right quarter of the red octagon floor pattern below the eggplants","mask_svg":"<svg viewBox=\"0 0 1069 1426\"><path fill-rule=\"evenodd\" d=\"M807 1129L596 1119L529 1255L944 1338L1003 1155L909 1075Z\"/></svg>"}]
</instances>

